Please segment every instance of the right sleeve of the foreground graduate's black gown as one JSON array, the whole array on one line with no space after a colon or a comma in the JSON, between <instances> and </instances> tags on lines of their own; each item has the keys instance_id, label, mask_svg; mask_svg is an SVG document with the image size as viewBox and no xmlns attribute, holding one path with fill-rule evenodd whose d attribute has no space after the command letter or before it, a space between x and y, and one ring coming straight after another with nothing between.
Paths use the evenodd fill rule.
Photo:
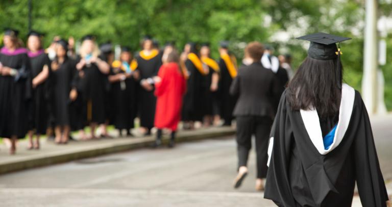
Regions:
<instances>
[{"instance_id":1,"label":"right sleeve of the foreground graduate's black gown","mask_svg":"<svg viewBox=\"0 0 392 207\"><path fill-rule=\"evenodd\" d=\"M357 127L356 139L353 142L358 192L362 206L386 206L388 194L377 158L369 115L362 99L360 102L362 106L361 121Z\"/></svg>"}]
</instances>

